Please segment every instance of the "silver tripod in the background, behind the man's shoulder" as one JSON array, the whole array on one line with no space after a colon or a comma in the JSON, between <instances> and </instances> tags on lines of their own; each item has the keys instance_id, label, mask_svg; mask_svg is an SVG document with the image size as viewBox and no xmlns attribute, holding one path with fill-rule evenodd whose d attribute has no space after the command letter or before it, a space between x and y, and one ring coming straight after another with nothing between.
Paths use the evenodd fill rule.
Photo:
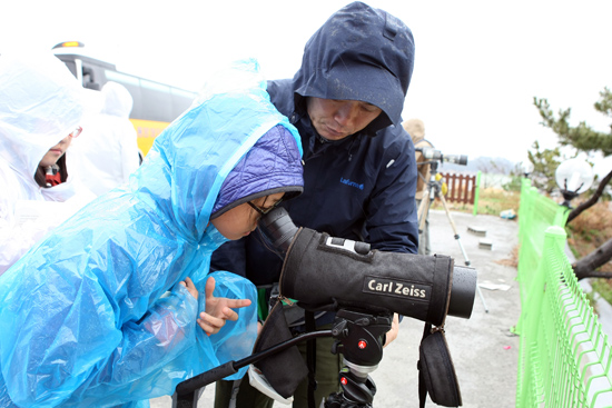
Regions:
<instances>
[{"instance_id":1,"label":"silver tripod in the background, behind the man's shoulder","mask_svg":"<svg viewBox=\"0 0 612 408\"><path fill-rule=\"evenodd\" d=\"M457 241L461 252L463 253L463 259L465 260L465 266L470 266L470 258L467 258L467 253L465 252L465 248L463 248L463 243L461 242L461 237L457 232L457 227L455 226L455 221L451 217L451 211L448 211L448 206L446 205L446 199L444 198L444 195L442 193L442 181L436 180L437 176L437 160L432 161L424 161L419 165L430 165L430 181L425 185L423 188L423 199L421 200L421 205L418 206L418 233L425 231L425 222L427 221L427 216L430 213L430 207L432 202L437 197L440 201L442 202L442 207L444 208L444 212L446 212L446 218L448 219L448 222L451 223L451 228L453 228L453 232L455 233L455 240ZM484 301L484 298L481 292L481 288L476 285L476 290L478 292L478 297L481 298L481 301L484 306L484 311L488 314L488 307L486 306L486 302Z\"/></svg>"}]
</instances>

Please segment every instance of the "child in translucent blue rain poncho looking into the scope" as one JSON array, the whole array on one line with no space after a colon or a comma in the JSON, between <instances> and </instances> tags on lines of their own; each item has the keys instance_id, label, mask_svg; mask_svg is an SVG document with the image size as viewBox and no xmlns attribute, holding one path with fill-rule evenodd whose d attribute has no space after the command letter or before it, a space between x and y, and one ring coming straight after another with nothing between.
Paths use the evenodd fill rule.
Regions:
<instances>
[{"instance_id":1,"label":"child in translucent blue rain poncho looking into the scope","mask_svg":"<svg viewBox=\"0 0 612 408\"><path fill-rule=\"evenodd\" d=\"M214 78L129 185L0 276L0 407L146 406L250 354L254 286L207 278L219 245L303 189L298 133L265 89L253 60Z\"/></svg>"}]
</instances>

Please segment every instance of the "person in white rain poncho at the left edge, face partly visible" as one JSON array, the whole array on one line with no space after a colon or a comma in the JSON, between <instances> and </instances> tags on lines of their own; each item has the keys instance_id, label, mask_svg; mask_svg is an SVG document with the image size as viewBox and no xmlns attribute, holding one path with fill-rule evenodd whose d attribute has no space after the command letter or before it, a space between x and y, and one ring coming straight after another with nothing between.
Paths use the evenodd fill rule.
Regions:
<instances>
[{"instance_id":1,"label":"person in white rain poncho at the left edge, face partly visible","mask_svg":"<svg viewBox=\"0 0 612 408\"><path fill-rule=\"evenodd\" d=\"M66 159L81 132L82 92L51 53L0 56L0 275L92 198Z\"/></svg>"}]
</instances>

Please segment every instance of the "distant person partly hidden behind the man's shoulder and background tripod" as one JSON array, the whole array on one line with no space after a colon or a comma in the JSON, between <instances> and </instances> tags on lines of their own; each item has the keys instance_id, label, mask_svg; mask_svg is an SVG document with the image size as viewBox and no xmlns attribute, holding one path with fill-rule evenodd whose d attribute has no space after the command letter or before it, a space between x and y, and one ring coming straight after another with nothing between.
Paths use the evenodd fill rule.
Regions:
<instances>
[{"instance_id":1,"label":"distant person partly hidden behind the man's shoulder and background tripod","mask_svg":"<svg viewBox=\"0 0 612 408\"><path fill-rule=\"evenodd\" d=\"M433 148L432 142L425 139L425 123L421 119L408 119L403 123L404 129L408 132L414 143L415 149ZM416 168L418 169L418 181L416 182L416 208L421 207L423 196L427 192L427 183L431 177L431 166L427 165L427 159L421 151L415 152ZM430 212L422 216L425 217L425 228L419 232L418 238L418 253L430 255L432 253L432 246L430 241Z\"/></svg>"}]
</instances>

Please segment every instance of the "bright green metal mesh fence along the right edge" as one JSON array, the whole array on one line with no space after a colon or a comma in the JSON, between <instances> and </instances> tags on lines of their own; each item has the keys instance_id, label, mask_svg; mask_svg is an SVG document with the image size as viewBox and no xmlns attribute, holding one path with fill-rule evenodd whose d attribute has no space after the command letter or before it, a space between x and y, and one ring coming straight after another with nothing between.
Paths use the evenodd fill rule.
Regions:
<instances>
[{"instance_id":1,"label":"bright green metal mesh fence along the right edge","mask_svg":"<svg viewBox=\"0 0 612 408\"><path fill-rule=\"evenodd\" d=\"M517 407L612 407L612 348L565 256L567 211L523 181Z\"/></svg>"}]
</instances>

